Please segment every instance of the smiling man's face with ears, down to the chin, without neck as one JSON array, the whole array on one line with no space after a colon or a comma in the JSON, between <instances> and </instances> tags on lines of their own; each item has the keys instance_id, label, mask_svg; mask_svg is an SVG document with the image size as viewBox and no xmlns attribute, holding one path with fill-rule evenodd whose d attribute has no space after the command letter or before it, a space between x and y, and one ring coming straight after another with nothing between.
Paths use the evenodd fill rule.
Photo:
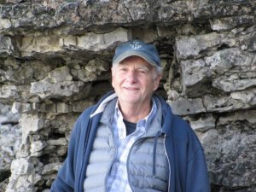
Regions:
<instances>
[{"instance_id":1,"label":"smiling man's face with ears, down to the chin, without neck","mask_svg":"<svg viewBox=\"0 0 256 192\"><path fill-rule=\"evenodd\" d=\"M128 57L112 69L112 85L119 97L119 104L150 103L160 78L155 68L138 56Z\"/></svg>"}]
</instances>

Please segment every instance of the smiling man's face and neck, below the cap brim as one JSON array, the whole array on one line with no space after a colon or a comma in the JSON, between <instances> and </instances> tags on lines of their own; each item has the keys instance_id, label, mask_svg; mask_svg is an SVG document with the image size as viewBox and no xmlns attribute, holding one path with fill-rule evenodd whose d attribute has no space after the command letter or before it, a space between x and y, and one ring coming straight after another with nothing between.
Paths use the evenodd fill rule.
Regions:
<instances>
[{"instance_id":1,"label":"smiling man's face and neck, below the cap brim","mask_svg":"<svg viewBox=\"0 0 256 192\"><path fill-rule=\"evenodd\" d=\"M160 83L160 73L139 56L130 56L112 68L113 88L124 118L133 123L151 110L151 96Z\"/></svg>"}]
</instances>

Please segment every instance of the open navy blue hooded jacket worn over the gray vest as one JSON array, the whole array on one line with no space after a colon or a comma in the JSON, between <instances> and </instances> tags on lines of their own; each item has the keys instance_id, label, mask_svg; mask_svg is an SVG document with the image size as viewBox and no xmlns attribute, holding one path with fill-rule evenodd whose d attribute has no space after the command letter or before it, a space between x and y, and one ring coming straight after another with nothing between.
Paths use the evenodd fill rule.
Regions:
<instances>
[{"instance_id":1,"label":"open navy blue hooded jacket worn over the gray vest","mask_svg":"<svg viewBox=\"0 0 256 192\"><path fill-rule=\"evenodd\" d=\"M103 96L101 101L85 109L79 116L70 137L67 159L51 186L51 192L83 192L90 150L102 117L102 113L92 117L90 114L112 94L110 92ZM162 105L161 131L166 136L166 153L171 166L168 192L210 192L206 160L195 132L186 121L172 113L165 100L157 97Z\"/></svg>"}]
</instances>

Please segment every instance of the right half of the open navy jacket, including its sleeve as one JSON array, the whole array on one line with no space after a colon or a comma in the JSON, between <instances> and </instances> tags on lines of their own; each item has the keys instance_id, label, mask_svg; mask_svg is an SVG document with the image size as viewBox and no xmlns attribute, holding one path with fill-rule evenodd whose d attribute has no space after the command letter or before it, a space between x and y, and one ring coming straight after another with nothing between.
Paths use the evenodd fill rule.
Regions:
<instances>
[{"instance_id":1,"label":"right half of the open navy jacket, including its sleeve","mask_svg":"<svg viewBox=\"0 0 256 192\"><path fill-rule=\"evenodd\" d=\"M184 119L163 103L162 130L170 164L169 192L210 192L207 163L201 143Z\"/></svg>"}]
</instances>

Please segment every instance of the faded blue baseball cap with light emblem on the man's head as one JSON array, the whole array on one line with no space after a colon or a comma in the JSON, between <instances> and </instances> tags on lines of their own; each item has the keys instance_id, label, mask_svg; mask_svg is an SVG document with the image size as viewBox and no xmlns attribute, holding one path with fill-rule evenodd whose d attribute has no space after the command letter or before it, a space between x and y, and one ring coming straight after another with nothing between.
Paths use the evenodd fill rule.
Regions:
<instances>
[{"instance_id":1,"label":"faded blue baseball cap with light emblem on the man's head","mask_svg":"<svg viewBox=\"0 0 256 192\"><path fill-rule=\"evenodd\" d=\"M161 67L160 56L152 44L145 44L140 40L132 40L119 44L113 55L113 65L123 61L129 56L139 56L154 67Z\"/></svg>"}]
</instances>

